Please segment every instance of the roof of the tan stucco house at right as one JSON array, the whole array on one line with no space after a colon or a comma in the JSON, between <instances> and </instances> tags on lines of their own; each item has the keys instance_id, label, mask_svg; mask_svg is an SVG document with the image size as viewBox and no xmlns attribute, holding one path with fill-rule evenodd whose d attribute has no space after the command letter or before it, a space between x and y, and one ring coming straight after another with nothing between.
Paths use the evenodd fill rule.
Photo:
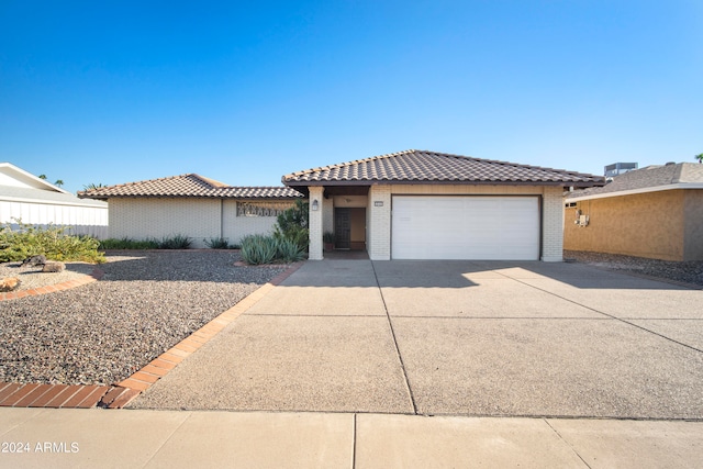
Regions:
<instances>
[{"instance_id":1,"label":"roof of the tan stucco house at right","mask_svg":"<svg viewBox=\"0 0 703 469\"><path fill-rule=\"evenodd\" d=\"M672 189L703 189L703 165L669 163L647 166L615 176L603 187L573 191L568 199L595 199Z\"/></svg>"}]
</instances>

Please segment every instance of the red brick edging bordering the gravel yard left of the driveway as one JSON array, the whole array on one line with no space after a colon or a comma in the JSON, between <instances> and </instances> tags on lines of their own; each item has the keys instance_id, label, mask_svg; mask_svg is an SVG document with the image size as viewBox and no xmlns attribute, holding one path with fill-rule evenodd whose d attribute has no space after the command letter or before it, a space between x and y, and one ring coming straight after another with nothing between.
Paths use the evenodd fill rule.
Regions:
<instances>
[{"instance_id":1,"label":"red brick edging bordering the gravel yard left of the driveway","mask_svg":"<svg viewBox=\"0 0 703 469\"><path fill-rule=\"evenodd\" d=\"M193 332L174 347L153 359L144 368L116 384L70 386L0 382L0 407L88 409L98 406L103 409L122 409L161 377L166 376L193 351L207 344L220 331L225 328L242 313L257 303L274 287L280 284L283 280L290 277L290 275L298 270L303 264L304 261L293 264L286 271L271 279L271 281L245 297L237 304L230 308L227 311ZM85 279L71 280L54 286L56 288L55 290L41 292L38 290L42 289L25 290L18 292L18 294L25 294L11 298L3 298L2 295L12 293L3 293L0 295L0 300L11 300L13 298L23 298L29 294L44 294L51 293L52 291L67 290L69 288L79 287L81 284L99 280L102 278L102 271L96 269L93 270L92 276L86 276ZM26 293L29 291L34 291L34 293Z\"/></svg>"}]
</instances>

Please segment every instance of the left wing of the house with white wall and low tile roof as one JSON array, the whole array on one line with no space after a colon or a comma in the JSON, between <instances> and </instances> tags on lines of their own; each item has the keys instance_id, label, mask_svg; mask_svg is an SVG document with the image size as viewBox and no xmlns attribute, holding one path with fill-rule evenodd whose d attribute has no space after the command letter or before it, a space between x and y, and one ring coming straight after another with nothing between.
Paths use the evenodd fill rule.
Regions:
<instances>
[{"instance_id":1,"label":"left wing of the house with white wall and low tile roof","mask_svg":"<svg viewBox=\"0 0 703 469\"><path fill-rule=\"evenodd\" d=\"M213 238L237 244L269 233L301 193L287 187L232 187L190 174L79 192L110 203L111 238L188 236L193 247Z\"/></svg>"}]
</instances>

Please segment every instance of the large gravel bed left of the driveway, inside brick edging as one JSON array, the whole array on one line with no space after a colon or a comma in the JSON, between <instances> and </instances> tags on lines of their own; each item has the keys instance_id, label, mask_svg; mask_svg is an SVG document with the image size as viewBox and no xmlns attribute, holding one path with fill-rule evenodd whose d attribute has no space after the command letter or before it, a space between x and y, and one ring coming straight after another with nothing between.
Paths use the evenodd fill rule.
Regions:
<instances>
[{"instance_id":1,"label":"large gravel bed left of the driveway, inside brick edging","mask_svg":"<svg viewBox=\"0 0 703 469\"><path fill-rule=\"evenodd\" d=\"M231 250L108 260L98 282L0 302L0 381L119 382L288 267L235 266Z\"/></svg>"}]
</instances>

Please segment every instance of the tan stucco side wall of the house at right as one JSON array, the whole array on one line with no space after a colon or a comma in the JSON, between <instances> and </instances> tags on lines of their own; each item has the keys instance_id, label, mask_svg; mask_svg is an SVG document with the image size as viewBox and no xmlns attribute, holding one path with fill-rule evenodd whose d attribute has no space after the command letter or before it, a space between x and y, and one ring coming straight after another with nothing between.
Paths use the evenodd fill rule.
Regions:
<instances>
[{"instance_id":1,"label":"tan stucco side wall of the house at right","mask_svg":"<svg viewBox=\"0 0 703 469\"><path fill-rule=\"evenodd\" d=\"M577 206L565 209L563 247L571 250L683 260L683 190L579 201ZM585 227L573 223L579 209L582 214L589 215ZM693 226L690 230L696 231Z\"/></svg>"}]
</instances>

